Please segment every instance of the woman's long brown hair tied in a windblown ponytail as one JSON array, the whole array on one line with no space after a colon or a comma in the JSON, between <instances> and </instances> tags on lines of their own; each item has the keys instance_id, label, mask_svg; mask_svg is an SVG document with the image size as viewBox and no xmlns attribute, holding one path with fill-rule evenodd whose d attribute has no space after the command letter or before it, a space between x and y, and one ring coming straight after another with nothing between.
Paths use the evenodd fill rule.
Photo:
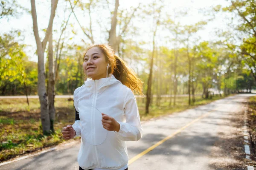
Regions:
<instances>
[{"instance_id":1,"label":"woman's long brown hair tied in a windblown ponytail","mask_svg":"<svg viewBox=\"0 0 256 170\"><path fill-rule=\"evenodd\" d=\"M113 76L126 85L132 91L137 94L143 94L143 82L137 77L135 72L129 68L129 66L120 57L115 55L115 51L110 45L107 44L93 44L87 48L85 54L90 48L98 47L102 50L109 62L110 67L108 68L108 73L113 74ZM84 55L85 55L84 54Z\"/></svg>"}]
</instances>

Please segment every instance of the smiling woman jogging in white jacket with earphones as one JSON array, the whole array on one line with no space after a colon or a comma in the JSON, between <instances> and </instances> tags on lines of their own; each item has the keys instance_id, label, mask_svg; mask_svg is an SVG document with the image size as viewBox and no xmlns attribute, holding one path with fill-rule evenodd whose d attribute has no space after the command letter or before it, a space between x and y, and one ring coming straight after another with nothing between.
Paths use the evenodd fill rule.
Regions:
<instances>
[{"instance_id":1,"label":"smiling woman jogging in white jacket with earphones","mask_svg":"<svg viewBox=\"0 0 256 170\"><path fill-rule=\"evenodd\" d=\"M84 54L87 80L74 91L75 123L64 139L81 136L79 170L128 170L125 141L143 136L134 93L143 82L109 45L92 45Z\"/></svg>"}]
</instances>

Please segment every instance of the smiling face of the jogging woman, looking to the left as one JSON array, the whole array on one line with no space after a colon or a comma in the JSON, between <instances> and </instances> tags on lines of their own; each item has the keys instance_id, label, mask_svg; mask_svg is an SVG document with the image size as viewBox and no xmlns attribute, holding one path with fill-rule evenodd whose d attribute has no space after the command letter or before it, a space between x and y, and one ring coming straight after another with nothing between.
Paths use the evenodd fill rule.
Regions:
<instances>
[{"instance_id":1,"label":"smiling face of the jogging woman, looking to the left","mask_svg":"<svg viewBox=\"0 0 256 170\"><path fill-rule=\"evenodd\" d=\"M90 48L84 55L84 73L93 80L105 78L107 66L106 57L98 47Z\"/></svg>"}]
</instances>

